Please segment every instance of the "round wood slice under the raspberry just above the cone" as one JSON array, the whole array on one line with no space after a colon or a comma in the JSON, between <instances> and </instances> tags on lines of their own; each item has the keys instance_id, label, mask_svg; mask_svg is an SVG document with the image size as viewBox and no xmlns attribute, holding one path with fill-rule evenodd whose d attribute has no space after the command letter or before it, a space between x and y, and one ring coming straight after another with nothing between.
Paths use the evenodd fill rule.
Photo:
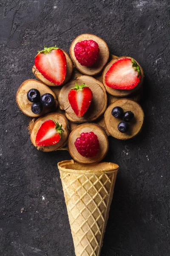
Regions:
<instances>
[{"instance_id":1,"label":"round wood slice under the raspberry just above the cone","mask_svg":"<svg viewBox=\"0 0 170 256\"><path fill-rule=\"evenodd\" d=\"M96 134L98 137L99 152L95 157L82 157L77 151L74 145L74 142L78 137L80 137L80 134L82 132L91 132L91 131L93 131L94 134ZM71 134L68 137L68 151L71 154L71 157L73 157L73 159L79 163L99 162L105 157L105 155L108 152L108 137L105 134L105 131L101 127L99 127L99 125L96 125L94 123L86 123L86 124L78 125L76 128L74 128L73 131L71 131Z\"/></svg>"}]
</instances>

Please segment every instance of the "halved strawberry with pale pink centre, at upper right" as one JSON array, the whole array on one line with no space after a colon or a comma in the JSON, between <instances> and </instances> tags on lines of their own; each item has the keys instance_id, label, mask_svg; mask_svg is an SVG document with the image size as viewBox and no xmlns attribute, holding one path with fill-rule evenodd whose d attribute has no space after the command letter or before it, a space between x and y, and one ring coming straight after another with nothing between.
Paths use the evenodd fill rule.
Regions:
<instances>
[{"instance_id":1,"label":"halved strawberry with pale pink centre, at upper right","mask_svg":"<svg viewBox=\"0 0 170 256\"><path fill-rule=\"evenodd\" d=\"M119 90L130 90L141 80L141 70L133 58L120 58L105 75L105 84Z\"/></svg>"}]
</instances>

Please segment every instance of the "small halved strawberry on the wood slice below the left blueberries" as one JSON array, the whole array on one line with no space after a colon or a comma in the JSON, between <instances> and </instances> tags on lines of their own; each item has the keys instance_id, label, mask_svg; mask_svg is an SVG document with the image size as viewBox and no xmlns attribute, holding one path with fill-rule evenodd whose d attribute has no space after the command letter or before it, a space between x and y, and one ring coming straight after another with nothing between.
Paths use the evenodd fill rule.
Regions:
<instances>
[{"instance_id":1,"label":"small halved strawberry on the wood slice below the left blueberries","mask_svg":"<svg viewBox=\"0 0 170 256\"><path fill-rule=\"evenodd\" d=\"M37 146L51 146L57 144L62 136L62 125L54 120L42 123L37 132L35 143Z\"/></svg>"}]
</instances>

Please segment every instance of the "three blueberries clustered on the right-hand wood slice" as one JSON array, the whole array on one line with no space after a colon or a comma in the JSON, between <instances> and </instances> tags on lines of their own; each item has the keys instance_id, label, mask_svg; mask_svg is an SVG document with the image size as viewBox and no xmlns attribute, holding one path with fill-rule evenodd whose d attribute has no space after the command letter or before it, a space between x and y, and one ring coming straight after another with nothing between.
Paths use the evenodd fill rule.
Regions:
<instances>
[{"instance_id":1,"label":"three blueberries clustered on the right-hand wood slice","mask_svg":"<svg viewBox=\"0 0 170 256\"><path fill-rule=\"evenodd\" d=\"M133 119L134 113L132 111L126 111L124 113L121 107L115 107L112 109L112 116L123 119L122 122L119 122L117 128L120 132L125 133L129 129L128 122Z\"/></svg>"}]
</instances>

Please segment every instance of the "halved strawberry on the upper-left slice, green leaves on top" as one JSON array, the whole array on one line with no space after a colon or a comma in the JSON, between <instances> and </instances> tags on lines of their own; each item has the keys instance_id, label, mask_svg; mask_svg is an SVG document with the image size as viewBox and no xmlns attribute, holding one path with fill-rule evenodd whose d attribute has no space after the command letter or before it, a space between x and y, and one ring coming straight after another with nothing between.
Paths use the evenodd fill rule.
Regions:
<instances>
[{"instance_id":1,"label":"halved strawberry on the upper-left slice, green leaves on top","mask_svg":"<svg viewBox=\"0 0 170 256\"><path fill-rule=\"evenodd\" d=\"M37 70L48 81L60 85L65 80L67 61L64 52L54 47L44 47L35 57Z\"/></svg>"}]
</instances>

